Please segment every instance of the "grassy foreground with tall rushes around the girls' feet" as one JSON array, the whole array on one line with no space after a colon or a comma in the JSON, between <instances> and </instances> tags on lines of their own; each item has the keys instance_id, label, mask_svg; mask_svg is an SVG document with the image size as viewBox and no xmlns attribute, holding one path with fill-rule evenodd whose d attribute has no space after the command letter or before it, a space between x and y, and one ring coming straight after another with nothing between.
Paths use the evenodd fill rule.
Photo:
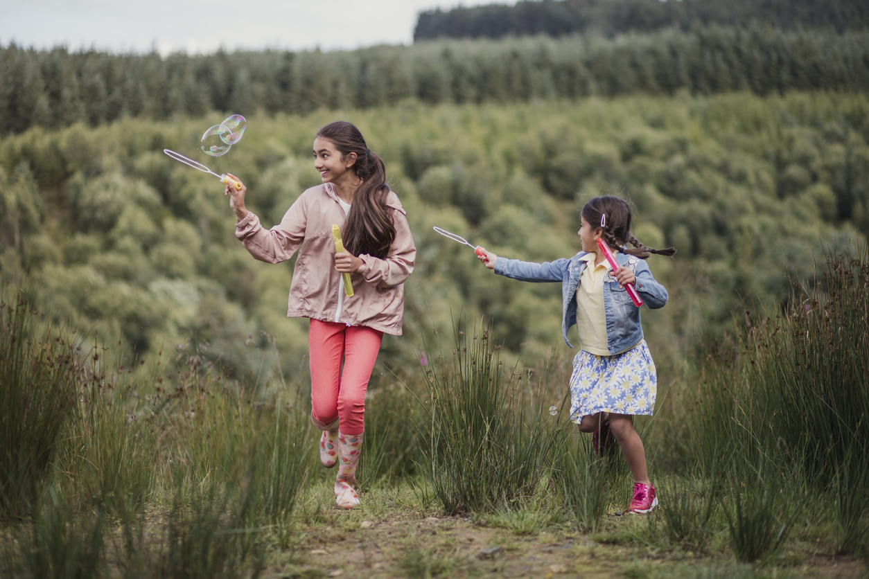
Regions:
<instances>
[{"instance_id":1,"label":"grassy foreground with tall rushes around the girls' feet","mask_svg":"<svg viewBox=\"0 0 869 579\"><path fill-rule=\"evenodd\" d=\"M645 437L664 456L649 516L616 516L632 482L620 452L596 457L550 417L563 385L501 364L486 326L458 327L453 348L371 392L362 506L347 512L317 464L304 385L256 389L185 352L130 372L7 287L0 575L859 576L869 461L850 406L865 392L815 378L816 400L787 396L815 369L866 390L853 369L866 352L829 347L839 332L862 347L844 311L866 312L865 262L833 260L815 298L687 368L696 394L683 386L673 408L697 419L662 416ZM794 344L826 347L824 369L799 370ZM823 409L816 436L787 427Z\"/></svg>"}]
</instances>

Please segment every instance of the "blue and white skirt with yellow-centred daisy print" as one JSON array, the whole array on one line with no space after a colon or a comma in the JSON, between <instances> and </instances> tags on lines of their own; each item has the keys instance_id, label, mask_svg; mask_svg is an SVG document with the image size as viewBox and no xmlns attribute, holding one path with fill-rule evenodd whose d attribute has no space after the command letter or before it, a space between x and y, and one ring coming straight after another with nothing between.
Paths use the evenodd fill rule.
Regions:
<instances>
[{"instance_id":1,"label":"blue and white skirt with yellow-centred daisy print","mask_svg":"<svg viewBox=\"0 0 869 579\"><path fill-rule=\"evenodd\" d=\"M646 340L615 356L582 351L570 375L570 419L597 412L651 416L658 394L658 374Z\"/></svg>"}]
</instances>

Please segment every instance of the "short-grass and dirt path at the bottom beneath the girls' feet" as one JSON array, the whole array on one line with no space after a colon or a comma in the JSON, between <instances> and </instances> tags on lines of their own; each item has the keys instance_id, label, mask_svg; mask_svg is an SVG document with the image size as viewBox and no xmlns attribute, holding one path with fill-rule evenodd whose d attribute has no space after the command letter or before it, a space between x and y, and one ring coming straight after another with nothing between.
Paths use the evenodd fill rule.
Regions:
<instances>
[{"instance_id":1,"label":"short-grass and dirt path at the bottom beneath the girls' feet","mask_svg":"<svg viewBox=\"0 0 869 579\"><path fill-rule=\"evenodd\" d=\"M505 529L491 521L438 517L406 507L311 508L289 532L287 545L266 559L264 577L859 577L850 558L788 553L771 566L733 561L726 550L695 556L681 549L636 543L640 517L607 517L595 535L550 525ZM326 497L328 498L328 497ZM365 499L368 499L366 501ZM368 502L368 508L365 503ZM497 522L495 522L497 524ZM517 534L524 533L524 534Z\"/></svg>"}]
</instances>

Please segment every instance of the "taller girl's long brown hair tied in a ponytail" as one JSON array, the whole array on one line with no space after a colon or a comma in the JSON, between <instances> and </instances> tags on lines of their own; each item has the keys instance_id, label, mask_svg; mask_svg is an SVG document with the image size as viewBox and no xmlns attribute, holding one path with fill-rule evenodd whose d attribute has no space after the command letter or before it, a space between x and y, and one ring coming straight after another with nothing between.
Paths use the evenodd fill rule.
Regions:
<instances>
[{"instance_id":1,"label":"taller girl's long brown hair tied in a ponytail","mask_svg":"<svg viewBox=\"0 0 869 579\"><path fill-rule=\"evenodd\" d=\"M395 225L386 204L389 186L383 161L368 149L362 133L349 122L330 122L317 131L317 136L332 141L342 159L350 153L356 154L351 168L362 179L362 185L353 194L353 204L344 221L344 247L354 255L368 253L384 259L395 240Z\"/></svg>"}]
</instances>

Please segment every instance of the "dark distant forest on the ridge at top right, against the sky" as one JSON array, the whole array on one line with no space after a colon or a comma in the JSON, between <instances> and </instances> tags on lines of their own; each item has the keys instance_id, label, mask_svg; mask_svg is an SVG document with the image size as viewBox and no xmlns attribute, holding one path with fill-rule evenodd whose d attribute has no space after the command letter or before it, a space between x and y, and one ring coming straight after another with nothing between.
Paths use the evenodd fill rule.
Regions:
<instances>
[{"instance_id":1,"label":"dark distant forest on the ridge at top right, against the sky","mask_svg":"<svg viewBox=\"0 0 869 579\"><path fill-rule=\"evenodd\" d=\"M595 33L615 36L665 28L760 24L781 30L865 30L864 0L520 0L421 12L414 40Z\"/></svg>"}]
</instances>

